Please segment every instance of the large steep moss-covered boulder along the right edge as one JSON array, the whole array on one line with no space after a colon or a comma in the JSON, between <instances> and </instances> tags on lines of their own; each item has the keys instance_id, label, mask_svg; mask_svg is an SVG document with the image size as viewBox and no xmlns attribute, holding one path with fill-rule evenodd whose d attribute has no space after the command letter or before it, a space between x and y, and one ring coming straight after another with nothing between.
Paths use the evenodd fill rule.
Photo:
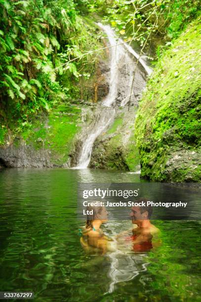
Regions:
<instances>
[{"instance_id":1,"label":"large steep moss-covered boulder along the right edge","mask_svg":"<svg viewBox=\"0 0 201 302\"><path fill-rule=\"evenodd\" d=\"M140 102L142 177L201 181L200 30L197 20L164 52Z\"/></svg>"}]
</instances>

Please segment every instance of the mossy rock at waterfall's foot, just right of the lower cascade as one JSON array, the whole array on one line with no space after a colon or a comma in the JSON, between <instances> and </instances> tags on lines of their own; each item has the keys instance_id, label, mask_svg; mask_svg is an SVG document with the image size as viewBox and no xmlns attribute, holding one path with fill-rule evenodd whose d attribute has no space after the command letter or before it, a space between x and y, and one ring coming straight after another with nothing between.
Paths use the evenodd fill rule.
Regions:
<instances>
[{"instance_id":1,"label":"mossy rock at waterfall's foot, just right of the lower cascade","mask_svg":"<svg viewBox=\"0 0 201 302\"><path fill-rule=\"evenodd\" d=\"M139 170L139 152L134 140L136 107L119 109L114 122L94 143L91 168Z\"/></svg>"}]
</instances>

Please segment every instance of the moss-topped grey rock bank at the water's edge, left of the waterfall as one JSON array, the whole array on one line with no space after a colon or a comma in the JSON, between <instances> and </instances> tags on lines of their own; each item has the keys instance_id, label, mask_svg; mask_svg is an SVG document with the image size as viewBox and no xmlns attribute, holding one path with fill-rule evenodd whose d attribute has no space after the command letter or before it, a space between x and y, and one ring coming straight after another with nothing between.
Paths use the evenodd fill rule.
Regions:
<instances>
[{"instance_id":1,"label":"moss-topped grey rock bank at the water's edge, left of the waterfall","mask_svg":"<svg viewBox=\"0 0 201 302\"><path fill-rule=\"evenodd\" d=\"M81 108L62 104L0 147L0 158L10 167L68 166L73 142L80 129Z\"/></svg>"}]
</instances>

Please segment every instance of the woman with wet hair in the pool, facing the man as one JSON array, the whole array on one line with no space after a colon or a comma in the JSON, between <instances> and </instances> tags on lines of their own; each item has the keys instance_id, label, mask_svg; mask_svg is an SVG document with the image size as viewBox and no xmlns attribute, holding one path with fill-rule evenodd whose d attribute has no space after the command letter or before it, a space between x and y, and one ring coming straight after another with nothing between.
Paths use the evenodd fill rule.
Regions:
<instances>
[{"instance_id":1,"label":"woman with wet hair in the pool, facing the man","mask_svg":"<svg viewBox=\"0 0 201 302\"><path fill-rule=\"evenodd\" d=\"M108 212L105 207L87 207L86 226L82 231L80 243L84 249L97 248L105 254L109 238L101 231L100 227L108 221Z\"/></svg>"}]
</instances>

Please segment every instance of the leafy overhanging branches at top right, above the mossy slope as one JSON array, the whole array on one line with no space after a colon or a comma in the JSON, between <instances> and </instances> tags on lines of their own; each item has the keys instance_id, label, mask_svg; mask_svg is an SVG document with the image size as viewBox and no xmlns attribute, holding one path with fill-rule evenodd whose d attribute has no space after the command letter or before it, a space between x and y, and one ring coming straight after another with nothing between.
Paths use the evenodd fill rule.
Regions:
<instances>
[{"instance_id":1,"label":"leafy overhanging branches at top right, above the mossy slope","mask_svg":"<svg viewBox=\"0 0 201 302\"><path fill-rule=\"evenodd\" d=\"M199 0L88 0L88 11L98 13L125 41L147 54L151 48L176 38L199 15ZM151 49L153 50L153 49ZM152 53L153 54L153 53Z\"/></svg>"}]
</instances>

